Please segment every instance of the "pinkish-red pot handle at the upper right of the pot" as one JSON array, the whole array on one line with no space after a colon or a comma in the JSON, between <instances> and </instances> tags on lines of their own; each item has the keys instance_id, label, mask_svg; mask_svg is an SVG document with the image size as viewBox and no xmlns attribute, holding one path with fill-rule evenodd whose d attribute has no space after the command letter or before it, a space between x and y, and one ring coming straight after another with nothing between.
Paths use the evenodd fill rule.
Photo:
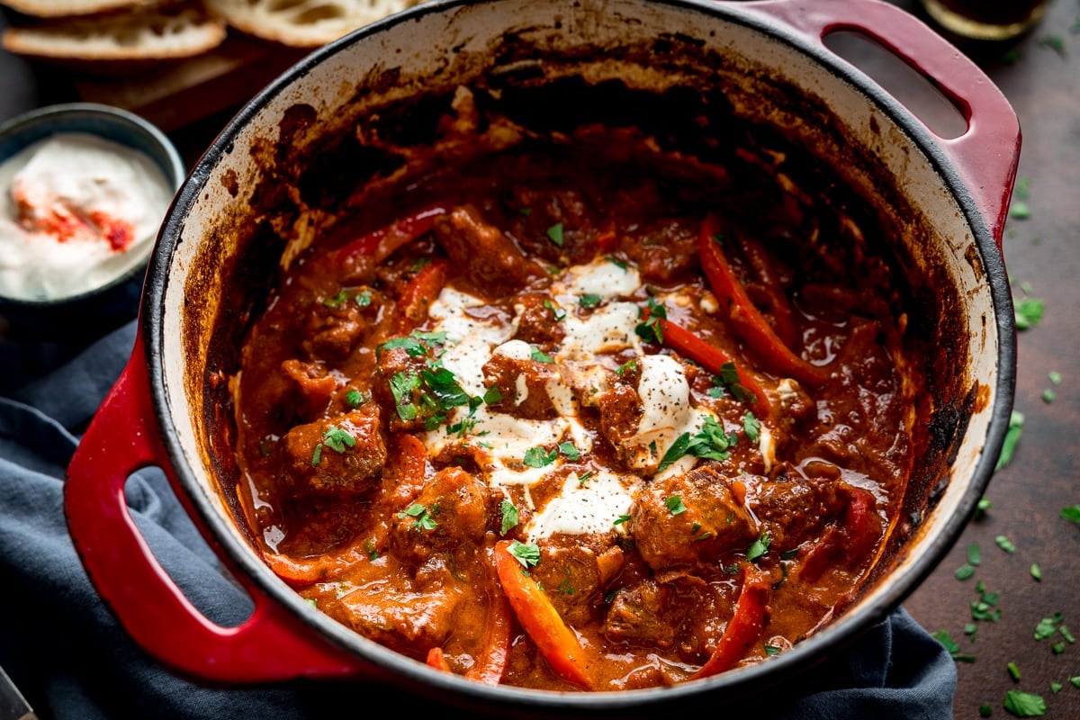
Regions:
<instances>
[{"instance_id":1,"label":"pinkish-red pot handle at the upper right of the pot","mask_svg":"<svg viewBox=\"0 0 1080 720\"><path fill-rule=\"evenodd\" d=\"M791 25L827 52L823 40L837 31L870 38L940 90L968 123L955 138L936 136L1001 249L1001 239L1020 162L1016 112L975 63L922 21L881 0L755 0L739 3Z\"/></svg>"}]
</instances>

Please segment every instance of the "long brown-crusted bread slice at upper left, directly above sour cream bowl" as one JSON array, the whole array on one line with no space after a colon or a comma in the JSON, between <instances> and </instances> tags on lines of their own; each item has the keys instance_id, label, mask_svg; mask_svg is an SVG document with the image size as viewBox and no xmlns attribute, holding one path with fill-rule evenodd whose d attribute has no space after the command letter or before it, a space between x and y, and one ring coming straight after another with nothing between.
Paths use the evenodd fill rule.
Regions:
<instances>
[{"instance_id":1,"label":"long brown-crusted bread slice at upper left, directly above sour cream bowl","mask_svg":"<svg viewBox=\"0 0 1080 720\"><path fill-rule=\"evenodd\" d=\"M3 46L18 55L54 60L157 60L216 47L226 31L225 21L201 4L172 3L9 27Z\"/></svg>"}]
</instances>

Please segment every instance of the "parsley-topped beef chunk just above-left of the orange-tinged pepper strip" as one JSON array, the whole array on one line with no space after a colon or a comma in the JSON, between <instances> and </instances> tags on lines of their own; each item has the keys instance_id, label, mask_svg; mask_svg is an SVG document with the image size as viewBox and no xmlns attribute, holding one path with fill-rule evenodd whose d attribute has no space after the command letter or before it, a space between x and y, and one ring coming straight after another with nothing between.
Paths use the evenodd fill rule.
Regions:
<instances>
[{"instance_id":1,"label":"parsley-topped beef chunk just above-left of the orange-tinged pepper strip","mask_svg":"<svg viewBox=\"0 0 1080 720\"><path fill-rule=\"evenodd\" d=\"M416 500L394 515L390 529L394 556L420 565L459 545L482 543L490 498L488 487L460 467L435 473Z\"/></svg>"}]
</instances>

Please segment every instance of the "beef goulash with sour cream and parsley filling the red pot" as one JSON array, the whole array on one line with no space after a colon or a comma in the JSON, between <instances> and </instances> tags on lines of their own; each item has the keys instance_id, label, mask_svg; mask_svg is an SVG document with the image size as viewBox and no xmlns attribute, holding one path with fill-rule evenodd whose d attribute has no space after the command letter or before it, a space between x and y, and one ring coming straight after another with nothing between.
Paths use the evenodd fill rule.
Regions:
<instances>
[{"instance_id":1,"label":"beef goulash with sour cream and parsley filling the red pot","mask_svg":"<svg viewBox=\"0 0 1080 720\"><path fill-rule=\"evenodd\" d=\"M779 150L501 130L283 264L230 380L256 543L320 611L477 682L768 662L902 524L888 263Z\"/></svg>"}]
</instances>

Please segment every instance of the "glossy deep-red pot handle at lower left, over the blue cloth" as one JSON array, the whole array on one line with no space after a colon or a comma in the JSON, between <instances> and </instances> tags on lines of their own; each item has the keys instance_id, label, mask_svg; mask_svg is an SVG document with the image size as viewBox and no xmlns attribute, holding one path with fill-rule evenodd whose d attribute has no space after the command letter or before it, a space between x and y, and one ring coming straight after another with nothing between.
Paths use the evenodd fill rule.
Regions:
<instances>
[{"instance_id":1,"label":"glossy deep-red pot handle at lower left, over the blue cloth","mask_svg":"<svg viewBox=\"0 0 1080 720\"><path fill-rule=\"evenodd\" d=\"M132 473L151 465L168 467L152 420L149 388L139 332L126 367L76 449L64 488L71 540L124 629L164 664L202 680L260 683L376 675L370 665L319 638L249 582L244 585L254 612L237 627L221 627L168 576L124 498Z\"/></svg>"}]
</instances>

